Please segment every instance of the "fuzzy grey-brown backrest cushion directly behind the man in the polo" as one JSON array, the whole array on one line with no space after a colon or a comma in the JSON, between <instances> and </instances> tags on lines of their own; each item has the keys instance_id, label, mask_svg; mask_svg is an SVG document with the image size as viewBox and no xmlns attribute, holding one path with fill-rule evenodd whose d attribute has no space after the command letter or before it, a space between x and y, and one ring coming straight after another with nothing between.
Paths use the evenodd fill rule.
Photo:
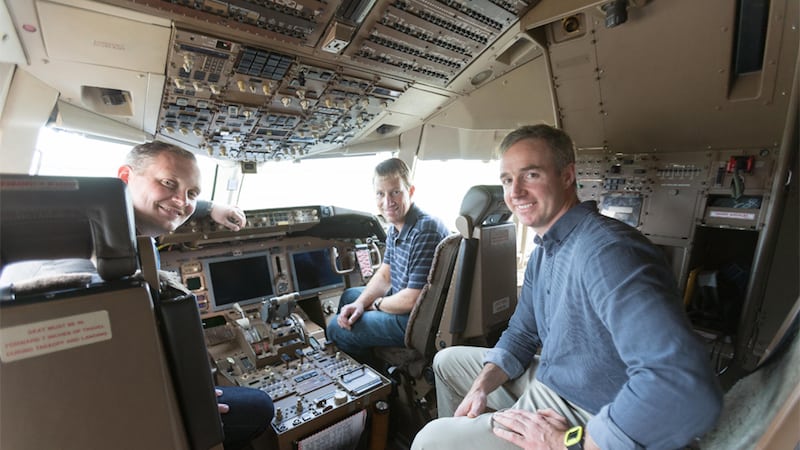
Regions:
<instances>
[{"instance_id":1,"label":"fuzzy grey-brown backrest cushion directly behind the man in the polo","mask_svg":"<svg viewBox=\"0 0 800 450\"><path fill-rule=\"evenodd\" d=\"M418 351L425 358L433 357L435 353L436 333L450 290L460 243L461 235L451 234L436 246L428 282L409 315L406 347Z\"/></svg>"}]
</instances>

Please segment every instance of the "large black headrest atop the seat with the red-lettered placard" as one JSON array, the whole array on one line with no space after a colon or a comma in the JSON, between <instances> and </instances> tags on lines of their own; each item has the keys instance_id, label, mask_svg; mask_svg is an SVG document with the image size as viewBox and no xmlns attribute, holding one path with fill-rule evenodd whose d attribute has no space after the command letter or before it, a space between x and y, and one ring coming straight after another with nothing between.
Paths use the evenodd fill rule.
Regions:
<instances>
[{"instance_id":1,"label":"large black headrest atop the seat with the red-lettered placard","mask_svg":"<svg viewBox=\"0 0 800 450\"><path fill-rule=\"evenodd\" d=\"M104 280L138 269L133 203L118 178L0 174L0 265L96 257Z\"/></svg>"}]
</instances>

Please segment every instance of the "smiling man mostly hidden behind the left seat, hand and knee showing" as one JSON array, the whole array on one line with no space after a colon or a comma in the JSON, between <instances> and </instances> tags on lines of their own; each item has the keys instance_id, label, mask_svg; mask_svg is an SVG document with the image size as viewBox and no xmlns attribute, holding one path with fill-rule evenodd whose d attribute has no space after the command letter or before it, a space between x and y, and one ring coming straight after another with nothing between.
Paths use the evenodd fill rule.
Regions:
<instances>
[{"instance_id":1,"label":"smiling man mostly hidden behind the left seat, hand and knee showing","mask_svg":"<svg viewBox=\"0 0 800 450\"><path fill-rule=\"evenodd\" d=\"M175 230L198 209L200 169L191 152L163 142L134 147L117 175L128 185L133 201L136 233L156 237ZM244 225L238 208L204 202L200 214L231 230ZM216 389L222 415L225 450L250 448L250 442L269 426L274 408L266 393L252 388Z\"/></svg>"}]
</instances>

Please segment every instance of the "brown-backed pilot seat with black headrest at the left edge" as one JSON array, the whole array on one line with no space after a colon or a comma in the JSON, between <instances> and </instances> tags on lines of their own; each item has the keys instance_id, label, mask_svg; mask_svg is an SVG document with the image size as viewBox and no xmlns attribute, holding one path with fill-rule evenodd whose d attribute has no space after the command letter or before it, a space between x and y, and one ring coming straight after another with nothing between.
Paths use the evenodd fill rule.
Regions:
<instances>
[{"instance_id":1,"label":"brown-backed pilot seat with black headrest at the left edge","mask_svg":"<svg viewBox=\"0 0 800 450\"><path fill-rule=\"evenodd\" d=\"M1 448L222 448L194 299L149 261L121 180L0 175Z\"/></svg>"}]
</instances>

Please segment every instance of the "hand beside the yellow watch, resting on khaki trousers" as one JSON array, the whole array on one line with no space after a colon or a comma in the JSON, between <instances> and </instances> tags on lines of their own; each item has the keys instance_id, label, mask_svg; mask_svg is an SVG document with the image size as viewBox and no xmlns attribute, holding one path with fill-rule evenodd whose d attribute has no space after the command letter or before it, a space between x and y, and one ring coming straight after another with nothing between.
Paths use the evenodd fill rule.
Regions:
<instances>
[{"instance_id":1,"label":"hand beside the yellow watch, resting on khaki trousers","mask_svg":"<svg viewBox=\"0 0 800 450\"><path fill-rule=\"evenodd\" d=\"M567 419L553 411L507 409L492 415L495 436L525 450L564 450Z\"/></svg>"}]
</instances>

